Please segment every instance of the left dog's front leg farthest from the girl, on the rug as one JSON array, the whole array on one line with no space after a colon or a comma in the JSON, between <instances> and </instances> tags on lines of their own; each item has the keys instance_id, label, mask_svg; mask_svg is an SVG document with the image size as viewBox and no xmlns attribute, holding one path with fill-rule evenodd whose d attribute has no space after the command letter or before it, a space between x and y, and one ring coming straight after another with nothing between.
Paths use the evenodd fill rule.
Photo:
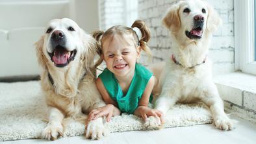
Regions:
<instances>
[{"instance_id":1,"label":"left dog's front leg farthest from the girl, on the rug","mask_svg":"<svg viewBox=\"0 0 256 144\"><path fill-rule=\"evenodd\" d=\"M60 110L53 107L48 107L47 111L49 122L47 123L47 126L42 132L42 138L48 140L55 140L58 136L62 135L62 120L64 118L64 115L62 114L62 112L60 112Z\"/></svg>"}]
</instances>

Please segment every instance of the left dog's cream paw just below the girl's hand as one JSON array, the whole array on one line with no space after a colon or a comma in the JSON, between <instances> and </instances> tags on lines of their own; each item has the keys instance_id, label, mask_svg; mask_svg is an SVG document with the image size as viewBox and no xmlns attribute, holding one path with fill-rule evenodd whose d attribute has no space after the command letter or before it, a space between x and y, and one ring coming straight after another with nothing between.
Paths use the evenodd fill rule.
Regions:
<instances>
[{"instance_id":1,"label":"left dog's cream paw just below the girl's hand","mask_svg":"<svg viewBox=\"0 0 256 144\"><path fill-rule=\"evenodd\" d=\"M103 136L107 136L109 134L109 129L103 125L103 119L98 118L94 121L90 121L86 126L85 138L87 139L100 139Z\"/></svg>"}]
</instances>

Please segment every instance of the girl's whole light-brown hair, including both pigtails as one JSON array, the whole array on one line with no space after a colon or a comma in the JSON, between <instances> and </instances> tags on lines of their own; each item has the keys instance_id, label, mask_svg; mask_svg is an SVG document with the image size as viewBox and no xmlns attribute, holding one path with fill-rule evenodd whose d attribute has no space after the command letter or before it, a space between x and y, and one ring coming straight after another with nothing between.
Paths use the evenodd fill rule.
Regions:
<instances>
[{"instance_id":1,"label":"girl's whole light-brown hair, including both pigtails","mask_svg":"<svg viewBox=\"0 0 256 144\"><path fill-rule=\"evenodd\" d=\"M139 40L136 32L133 30L134 27L138 28L142 34L142 38L140 38L140 40ZM120 36L123 36L124 34L132 34L132 36L134 38L133 40L134 40L135 45L140 46L143 51L145 51L149 56L151 56L151 50L147 46L147 42L150 39L150 31L144 21L136 20L136 21L134 21L134 23L131 27L126 27L124 25L116 25L116 26L110 27L105 32L103 32L101 30L97 30L97 31L93 32L92 36L97 40L97 42L99 43L99 45L101 47L101 49L98 52L98 54L100 56L101 56L101 54L103 54L102 45L103 45L104 40L109 38L109 36L113 36L114 34L118 34ZM100 58L96 62L96 66L99 66L99 64L101 64L101 62L103 62L102 58Z\"/></svg>"}]
</instances>

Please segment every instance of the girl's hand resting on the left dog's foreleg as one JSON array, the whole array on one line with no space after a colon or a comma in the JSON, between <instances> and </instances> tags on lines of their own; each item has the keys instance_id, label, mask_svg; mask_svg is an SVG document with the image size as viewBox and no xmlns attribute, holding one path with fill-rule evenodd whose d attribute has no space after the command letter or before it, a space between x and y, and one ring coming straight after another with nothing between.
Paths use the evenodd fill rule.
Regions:
<instances>
[{"instance_id":1,"label":"girl's hand resting on the left dog's foreleg","mask_svg":"<svg viewBox=\"0 0 256 144\"><path fill-rule=\"evenodd\" d=\"M113 115L120 115L120 110L116 110L116 108L113 104L107 104L106 106L99 107L97 109L94 109L90 112L88 115L88 121L92 121L97 119L98 117L107 116L107 122L110 121L110 118Z\"/></svg>"}]
</instances>

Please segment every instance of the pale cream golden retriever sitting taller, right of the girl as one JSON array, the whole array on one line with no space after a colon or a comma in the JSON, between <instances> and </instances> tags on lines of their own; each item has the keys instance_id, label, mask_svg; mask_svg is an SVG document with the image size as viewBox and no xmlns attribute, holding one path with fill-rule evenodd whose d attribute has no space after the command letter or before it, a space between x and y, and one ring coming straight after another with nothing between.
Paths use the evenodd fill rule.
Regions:
<instances>
[{"instance_id":1,"label":"pale cream golden retriever sitting taller, right of the girl","mask_svg":"<svg viewBox=\"0 0 256 144\"><path fill-rule=\"evenodd\" d=\"M233 120L224 112L224 103L212 81L211 61L207 53L212 32L221 23L216 10L205 1L179 1L162 19L170 30L172 46L165 64L151 67L159 84L155 108L166 114L176 102L203 102L211 110L214 125L220 130L234 128ZM158 129L158 119L149 117L148 129Z\"/></svg>"}]
</instances>

